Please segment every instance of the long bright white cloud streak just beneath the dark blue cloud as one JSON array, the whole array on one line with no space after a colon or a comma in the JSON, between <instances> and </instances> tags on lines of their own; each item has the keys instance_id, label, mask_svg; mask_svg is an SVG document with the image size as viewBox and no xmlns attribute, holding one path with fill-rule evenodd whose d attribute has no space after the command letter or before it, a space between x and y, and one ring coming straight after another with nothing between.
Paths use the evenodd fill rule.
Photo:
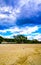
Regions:
<instances>
[{"instance_id":1,"label":"long bright white cloud streak just beneath the dark blue cloud","mask_svg":"<svg viewBox=\"0 0 41 65\"><path fill-rule=\"evenodd\" d=\"M19 34L31 34L33 32L36 32L37 30L39 29L38 26L34 26L34 27L29 27L29 26L26 26L26 27L23 27L23 28L19 28L19 27L12 27L12 28L9 28L9 29L5 29L5 30L0 30L0 32L2 33L6 33L7 31L11 32L11 33L19 33Z\"/></svg>"}]
</instances>

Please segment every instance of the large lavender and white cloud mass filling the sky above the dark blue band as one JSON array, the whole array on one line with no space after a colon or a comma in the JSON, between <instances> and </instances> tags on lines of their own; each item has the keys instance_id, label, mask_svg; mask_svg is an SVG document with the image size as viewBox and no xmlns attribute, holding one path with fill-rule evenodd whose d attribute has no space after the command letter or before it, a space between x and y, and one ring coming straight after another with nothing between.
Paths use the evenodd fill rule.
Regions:
<instances>
[{"instance_id":1,"label":"large lavender and white cloud mass filling the sky above the dark blue band","mask_svg":"<svg viewBox=\"0 0 41 65\"><path fill-rule=\"evenodd\" d=\"M0 6L0 21L2 19L7 20L7 22L11 20L12 24L16 24L15 21L17 19L20 19L21 17L22 18L24 17L30 18L33 16L39 17L38 12L41 12L41 9L40 9L41 0L17 0L17 1L16 0L14 1L1 0L0 3L4 4ZM13 6L12 6L12 3L13 3Z\"/></svg>"}]
</instances>

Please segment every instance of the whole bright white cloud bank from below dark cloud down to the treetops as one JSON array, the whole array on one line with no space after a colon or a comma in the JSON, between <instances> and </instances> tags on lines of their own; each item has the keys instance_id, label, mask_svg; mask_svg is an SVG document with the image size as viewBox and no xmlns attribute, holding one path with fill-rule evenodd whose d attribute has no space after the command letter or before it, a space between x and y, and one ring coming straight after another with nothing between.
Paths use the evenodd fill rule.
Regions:
<instances>
[{"instance_id":1,"label":"whole bright white cloud bank from below dark cloud down to the treetops","mask_svg":"<svg viewBox=\"0 0 41 65\"><path fill-rule=\"evenodd\" d=\"M27 36L28 39L37 39L41 41L41 34L39 32L36 33L36 31L38 31L39 28L39 26L26 26L23 28L19 28L16 26L5 30L0 30L0 32L3 33L3 37L5 38L12 38L14 35L24 34ZM10 32L11 34L4 36L4 34L7 32Z\"/></svg>"}]
</instances>

